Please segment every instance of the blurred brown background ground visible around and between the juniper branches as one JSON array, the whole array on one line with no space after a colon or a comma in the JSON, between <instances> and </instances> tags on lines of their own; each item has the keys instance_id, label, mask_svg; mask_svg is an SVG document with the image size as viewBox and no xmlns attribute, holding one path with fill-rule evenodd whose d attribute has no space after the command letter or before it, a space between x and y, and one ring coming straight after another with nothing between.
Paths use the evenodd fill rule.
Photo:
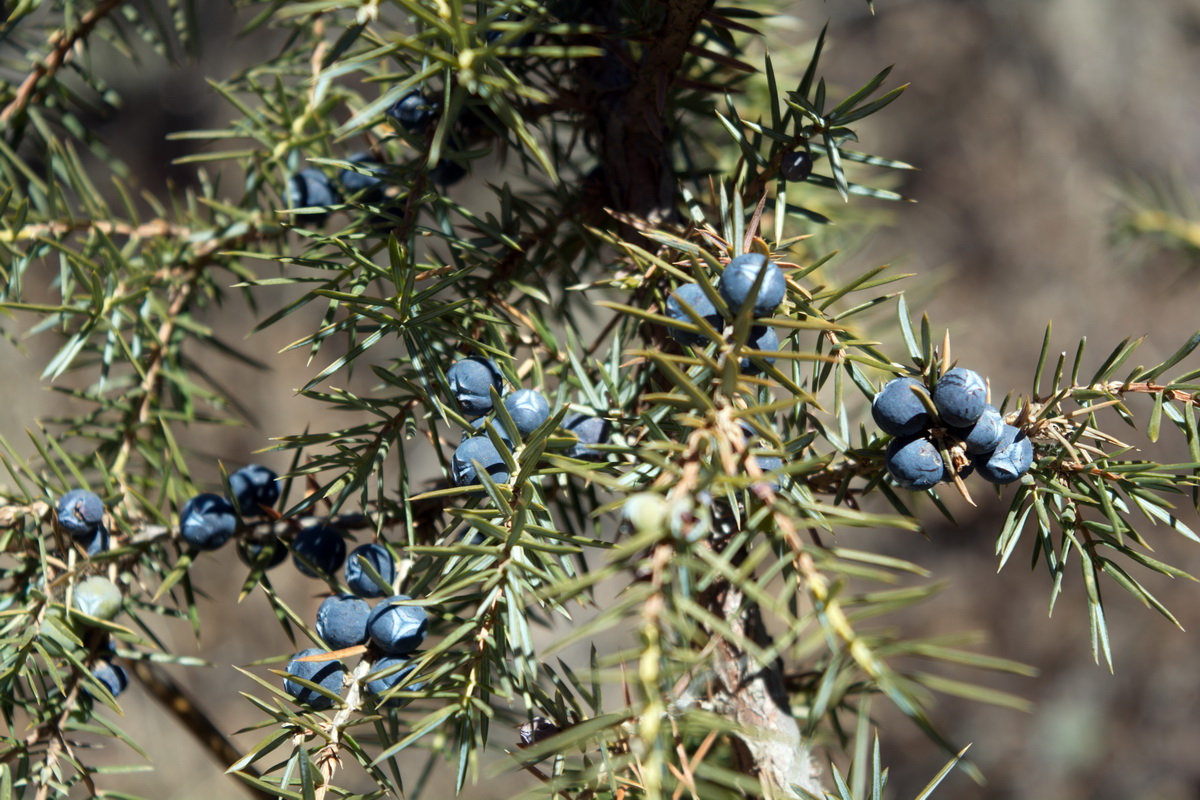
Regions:
<instances>
[{"instance_id":1,"label":"blurred brown background ground visible around and between the juniper branches","mask_svg":"<svg viewBox=\"0 0 1200 800\"><path fill-rule=\"evenodd\" d=\"M234 22L223 16L223 4L204 5L211 13L205 23L210 41L200 64L168 72L125 70L113 80L126 103L116 118L122 127L114 145L151 190L163 186L164 170L176 181L190 180L188 169L164 167L190 146L167 142L167 133L218 127L228 114L203 76L224 77L260 47L232 38ZM1200 2L877 0L876 6L871 17L865 2L853 0L793 2L790 18L768 29L776 59L788 48L802 48L806 58L820 25L830 18L822 73L838 91L853 89L888 64L896 67L887 88L912 84L887 112L862 125L859 134L862 149L920 168L898 187L918 204L889 206L894 224L866 240L840 241L850 245L839 257L844 269L892 263L917 272L910 283L914 315L928 311L935 330L950 327L955 356L988 374L996 387L1028 391L1046 320L1055 324L1055 350L1073 351L1081 336L1088 337L1092 367L1126 336L1147 337L1134 362L1171 353L1198 326L1195 264L1145 245L1114 246L1111 233L1123 181L1172 176L1195 187L1200 178ZM128 119L139 120L139 127L125 125ZM840 235L845 233L828 234L830 241ZM264 313L281 305L272 295L260 300ZM228 338L239 341L256 320L230 314L218 321ZM8 330L19 330L17 324L5 323ZM275 359L296 336L276 329L250 347L259 357ZM20 378L10 383L8 414L0 422L10 438L61 408L56 395L36 384L49 344L30 341L28 357L0 348L5 374ZM229 366L230 385L254 386L246 399L264 422L259 429L205 432L203 452L239 465L270 435L308 422L322 427L312 417L317 409L293 395L300 375L310 373L304 355L275 362L268 374ZM1188 363L1194 366L1194 359ZM1186 459L1172 433L1153 457ZM281 470L287 463L274 456L258 459ZM198 474L204 469L215 474L211 467ZM851 533L841 540L913 559L949 582L947 591L905 620L907 632L985 631L986 651L1040 669L1036 679L982 676L1032 699L1032 714L955 700L937 704L935 720L954 741L974 742L971 754L989 782L977 787L955 774L935 796L1200 798L1200 639L1123 593L1109 591L1116 673L1096 666L1078 573L1068 576L1064 596L1048 619L1049 581L1040 565L1032 575L1025 569L1027 546L996 575L994 533L1007 504L982 489L976 499L977 510L955 506L958 528L928 513L930 541L892 533ZM1200 573L1200 547L1187 547L1169 533L1151 535L1159 558ZM1136 577L1146 577L1184 627L1200 628L1200 587ZM316 610L313 584L283 575L277 581L298 609ZM196 582L211 597L202 600L204 639L193 644L185 626L166 626L164 634L179 651L216 664L176 675L234 729L258 715L234 693L254 687L230 664L283 654L288 644L259 596L242 607L226 600L236 596L240 577L221 559L203 558ZM126 728L148 745L157 768L130 776L128 790L180 799L240 794L140 690L122 699ZM946 758L898 715L882 712L880 723L884 763L892 768L890 796L911 798ZM239 741L246 747L257 738ZM115 760L136 757L121 752ZM505 796L522 780L485 782L467 795Z\"/></svg>"}]
</instances>

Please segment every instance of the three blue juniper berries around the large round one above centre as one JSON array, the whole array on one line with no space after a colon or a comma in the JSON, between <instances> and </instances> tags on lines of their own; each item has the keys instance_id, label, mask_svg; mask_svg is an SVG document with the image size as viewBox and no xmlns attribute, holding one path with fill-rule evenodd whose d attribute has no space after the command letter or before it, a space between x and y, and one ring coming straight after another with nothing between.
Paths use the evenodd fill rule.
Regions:
<instances>
[{"instance_id":1,"label":"three blue juniper berries around the large round one above centre","mask_svg":"<svg viewBox=\"0 0 1200 800\"><path fill-rule=\"evenodd\" d=\"M757 291L755 291L756 282L758 282ZM716 288L731 314L737 315L738 312L749 306L754 317L760 318L770 317L784 302L787 281L779 265L768 260L762 253L745 253L728 263ZM691 314L688 313L688 309L691 311ZM727 321L698 283L685 283L671 293L671 296L667 297L666 314L672 320L685 325L695 325L692 317L695 314L718 332L725 329ZM703 345L708 338L703 333L683 327L671 326L668 330L672 338L689 347ZM775 329L769 325L755 325L750 329L746 344L755 350L770 353L779 350L779 336L775 333ZM775 362L769 356L763 360L767 363ZM742 372L748 374L762 372L749 357L742 359L738 366Z\"/></svg>"}]
</instances>

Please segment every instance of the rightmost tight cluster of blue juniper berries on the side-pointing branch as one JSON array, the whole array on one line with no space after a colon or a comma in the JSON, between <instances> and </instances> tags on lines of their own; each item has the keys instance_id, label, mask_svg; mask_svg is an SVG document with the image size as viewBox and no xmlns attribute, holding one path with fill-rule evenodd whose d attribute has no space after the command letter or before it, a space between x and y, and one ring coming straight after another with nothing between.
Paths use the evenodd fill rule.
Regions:
<instances>
[{"instance_id":1,"label":"rightmost tight cluster of blue juniper berries on the side-pointing branch","mask_svg":"<svg viewBox=\"0 0 1200 800\"><path fill-rule=\"evenodd\" d=\"M923 397L924 396L924 399ZM937 411L937 422L929 405ZM916 378L889 380L871 402L876 425L895 437L884 461L896 483L906 489L928 489L954 480L936 444L961 449L967 475L972 469L991 483L1012 483L1033 464L1033 444L1007 425L988 403L988 385L979 373L956 367L938 378L932 395Z\"/></svg>"}]
</instances>

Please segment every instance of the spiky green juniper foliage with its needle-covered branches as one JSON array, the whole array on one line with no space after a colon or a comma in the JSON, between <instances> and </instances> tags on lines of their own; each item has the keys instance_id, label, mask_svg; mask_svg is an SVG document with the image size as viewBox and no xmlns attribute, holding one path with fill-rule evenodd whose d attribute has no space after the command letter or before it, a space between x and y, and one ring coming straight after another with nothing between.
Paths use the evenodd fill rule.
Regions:
<instances>
[{"instance_id":1,"label":"spiky green juniper foliage with its needle-covered branches","mask_svg":"<svg viewBox=\"0 0 1200 800\"><path fill-rule=\"evenodd\" d=\"M911 167L856 133L901 96L890 67L827 82L824 30L776 64L769 0L221 2L241 36L284 35L211 77L233 121L175 134L198 143L179 192L133 185L83 122L122 113L89 54L191 58L206 4L0 4L0 309L7 337L54 338L40 378L76 409L0 443L0 798L120 792L79 741L136 758L126 686L170 697L157 664L206 666L150 624L204 630L198 559L240 570L294 643L246 642L229 670L257 741L185 714L271 798L522 771L530 796L878 799L883 703L947 751L926 796L974 774L931 693L1020 706L986 672L1028 668L902 638L880 618L934 588L846 531L918 530L947 492L1010 503L998 563L1032 554L1051 601L1082 583L1098 661L1103 591L1174 621L1135 573L1188 577L1152 545L1200 542L1174 511L1200 498L1200 333L1129 367L1136 342L1055 357L1048 329L1030 386L972 384L946 419L970 372L949 333L808 237L907 199L874 185ZM253 329L211 326L217 306ZM193 480L181 434L246 421L214 359L269 368L242 335L311 309L288 348L311 371L277 403L334 423L263 423L263 453ZM884 386L928 481L889 464L907 434L872 420ZM1022 447L1003 480L984 411ZM1192 462L1116 423L1177 431ZM226 470L268 453L278 480ZM968 488L977 468L996 486ZM320 619L276 593L289 569L328 593Z\"/></svg>"}]
</instances>

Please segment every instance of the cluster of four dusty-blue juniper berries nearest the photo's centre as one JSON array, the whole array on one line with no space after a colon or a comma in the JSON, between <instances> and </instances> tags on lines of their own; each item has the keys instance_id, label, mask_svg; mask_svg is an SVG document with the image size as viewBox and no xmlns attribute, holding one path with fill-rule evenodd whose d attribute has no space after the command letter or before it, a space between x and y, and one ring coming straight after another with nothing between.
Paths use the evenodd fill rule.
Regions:
<instances>
[{"instance_id":1,"label":"cluster of four dusty-blue juniper berries nearest the photo's centre","mask_svg":"<svg viewBox=\"0 0 1200 800\"><path fill-rule=\"evenodd\" d=\"M450 476L455 486L480 483L476 471L479 468L496 483L506 483L510 479L509 465L484 428L486 415L493 410L492 392L499 397L504 391L504 377L499 367L491 359L468 356L450 367L446 381L463 416L472 420L472 428L463 432L462 443L455 449L450 463ZM516 433L522 438L532 434L550 419L550 403L541 392L533 389L510 392L504 397L504 409L512 419ZM511 432L503 425L494 427L500 439L511 447ZM607 420L586 414L570 414L563 420L563 428L578 439L566 452L568 456L583 459L602 458L604 455L592 445L608 440L611 426Z\"/></svg>"}]
</instances>

